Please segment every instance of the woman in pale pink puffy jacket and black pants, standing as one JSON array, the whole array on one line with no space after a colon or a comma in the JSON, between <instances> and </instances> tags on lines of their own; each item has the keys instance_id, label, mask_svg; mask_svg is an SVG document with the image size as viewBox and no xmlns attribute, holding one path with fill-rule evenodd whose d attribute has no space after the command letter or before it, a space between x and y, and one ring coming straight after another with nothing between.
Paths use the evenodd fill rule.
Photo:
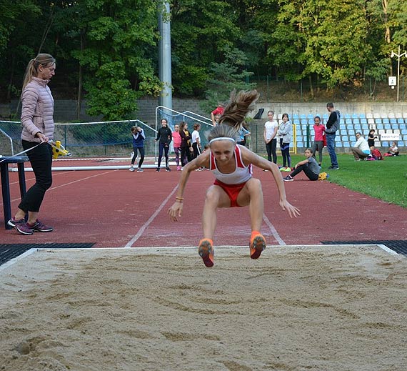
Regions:
<instances>
[{"instance_id":1,"label":"woman in pale pink puffy jacket and black pants, standing","mask_svg":"<svg viewBox=\"0 0 407 371\"><path fill-rule=\"evenodd\" d=\"M47 142L54 138L54 99L48 87L55 74L55 59L49 54L39 54L29 61L21 94L21 139L23 148L29 149L31 167L36 182L26 192L15 216L8 224L21 234L52 232L38 219L44 194L52 184L52 147ZM25 221L26 214L28 220Z\"/></svg>"}]
</instances>

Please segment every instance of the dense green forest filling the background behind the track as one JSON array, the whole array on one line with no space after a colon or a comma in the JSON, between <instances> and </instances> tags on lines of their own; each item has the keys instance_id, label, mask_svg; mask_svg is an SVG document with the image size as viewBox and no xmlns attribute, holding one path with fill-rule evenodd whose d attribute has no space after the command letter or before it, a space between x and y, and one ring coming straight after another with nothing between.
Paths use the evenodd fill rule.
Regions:
<instances>
[{"instance_id":1,"label":"dense green forest filling the background behind the track","mask_svg":"<svg viewBox=\"0 0 407 371\"><path fill-rule=\"evenodd\" d=\"M407 46L407 1L172 0L177 97L221 101L270 76L319 89L374 85L397 73ZM0 0L0 100L18 99L26 64L56 57L56 98L86 99L89 114L124 119L161 91L161 0ZM401 73L407 59L401 58ZM373 87L372 87L373 86Z\"/></svg>"}]
</instances>

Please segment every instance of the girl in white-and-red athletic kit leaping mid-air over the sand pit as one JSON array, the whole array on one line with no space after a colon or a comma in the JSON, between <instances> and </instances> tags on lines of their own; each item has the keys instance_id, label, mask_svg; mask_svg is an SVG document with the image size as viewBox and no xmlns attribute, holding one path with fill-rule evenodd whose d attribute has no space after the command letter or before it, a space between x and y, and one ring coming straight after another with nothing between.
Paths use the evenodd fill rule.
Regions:
<instances>
[{"instance_id":1,"label":"girl in white-and-red athletic kit leaping mid-air over the sand pit","mask_svg":"<svg viewBox=\"0 0 407 371\"><path fill-rule=\"evenodd\" d=\"M176 222L183 210L184 189L189 175L200 167L206 167L216 177L215 182L206 191L202 225L204 238L199 242L199 255L206 267L213 266L213 234L216 229L216 211L219 207L248 206L251 218L251 239L249 243L251 259L260 257L266 248L266 239L260 233L263 221L263 191L261 182L251 175L251 165L271 172L280 195L281 209L290 217L297 217L299 210L286 199L283 177L278 166L263 157L254 154L238 142L240 129L246 114L251 111L252 103L258 98L258 92L240 91L231 94L231 102L225 108L220 123L214 127L209 136L209 150L202 153L184 167L179 180L176 202L170 207L170 218Z\"/></svg>"}]
</instances>

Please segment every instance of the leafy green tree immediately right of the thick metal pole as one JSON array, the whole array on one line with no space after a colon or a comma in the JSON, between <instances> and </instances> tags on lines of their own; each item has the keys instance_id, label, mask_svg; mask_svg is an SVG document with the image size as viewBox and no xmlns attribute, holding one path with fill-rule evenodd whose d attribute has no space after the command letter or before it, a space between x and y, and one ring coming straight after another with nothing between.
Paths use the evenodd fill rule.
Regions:
<instances>
[{"instance_id":1,"label":"leafy green tree immediately right of the thick metal pole","mask_svg":"<svg viewBox=\"0 0 407 371\"><path fill-rule=\"evenodd\" d=\"M241 36L228 1L177 0L171 7L173 85L177 94L202 95L211 63Z\"/></svg>"}]
</instances>

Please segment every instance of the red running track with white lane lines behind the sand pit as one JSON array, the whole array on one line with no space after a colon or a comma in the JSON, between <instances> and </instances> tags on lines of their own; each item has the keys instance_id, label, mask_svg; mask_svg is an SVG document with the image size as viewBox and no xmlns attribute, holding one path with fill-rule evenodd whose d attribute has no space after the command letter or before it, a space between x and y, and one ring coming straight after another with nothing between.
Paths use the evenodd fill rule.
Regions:
<instances>
[{"instance_id":1,"label":"red running track with white lane lines behind the sand pit","mask_svg":"<svg viewBox=\"0 0 407 371\"><path fill-rule=\"evenodd\" d=\"M98 162L99 163L99 162ZM96 162L91 165L96 164ZM111 162L109 162L111 164ZM123 164L123 163L122 163ZM89 164L88 164L89 165ZM61 164L58 164L61 166ZM128 170L54 172L46 192L41 220L51 233L23 236L4 229L1 205L0 243L83 243L95 247L196 246L201 238L201 211L205 191L213 183L210 172L194 172L184 197L184 215L171 222L166 212L174 202L181 172L144 173ZM309 182L301 176L286 182L288 201L301 210L291 219L278 205L271 173L254 169L264 194L262 232L268 244L320 244L326 240L406 239L407 209L331 184ZM19 204L16 173L10 174L12 212ZM26 173L27 189L34 174ZM170 196L170 194L173 194ZM248 244L247 208L220 209L215 246Z\"/></svg>"}]
</instances>

